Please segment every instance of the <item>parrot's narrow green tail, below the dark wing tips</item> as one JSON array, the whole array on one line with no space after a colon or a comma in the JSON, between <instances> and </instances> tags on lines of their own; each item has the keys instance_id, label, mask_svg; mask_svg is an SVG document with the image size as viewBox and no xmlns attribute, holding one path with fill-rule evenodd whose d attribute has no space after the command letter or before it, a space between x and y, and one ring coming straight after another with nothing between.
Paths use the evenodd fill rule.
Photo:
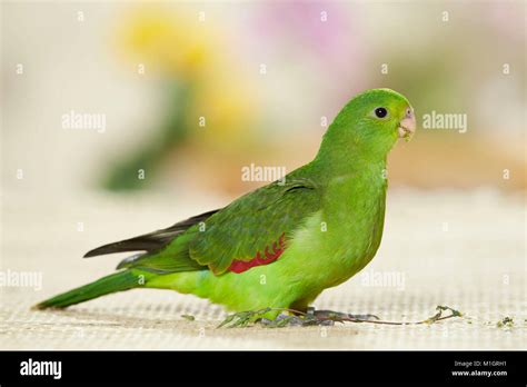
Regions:
<instances>
[{"instance_id":1,"label":"parrot's narrow green tail, below the dark wing tips","mask_svg":"<svg viewBox=\"0 0 527 387\"><path fill-rule=\"evenodd\" d=\"M145 274L136 270L123 270L102 277L97 281L54 296L36 305L36 309L66 308L70 305L84 302L110 292L142 287L146 284Z\"/></svg>"}]
</instances>

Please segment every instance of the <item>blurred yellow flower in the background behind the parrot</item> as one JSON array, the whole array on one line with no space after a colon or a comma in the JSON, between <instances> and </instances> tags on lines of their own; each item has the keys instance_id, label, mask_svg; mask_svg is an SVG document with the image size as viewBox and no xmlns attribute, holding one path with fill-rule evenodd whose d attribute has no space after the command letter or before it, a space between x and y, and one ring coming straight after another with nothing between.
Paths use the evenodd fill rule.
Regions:
<instances>
[{"instance_id":1,"label":"blurred yellow flower in the background behind the parrot","mask_svg":"<svg viewBox=\"0 0 527 387\"><path fill-rule=\"evenodd\" d=\"M146 71L176 79L191 90L188 127L201 143L237 147L257 120L255 82L240 56L226 49L228 34L188 4L142 7L130 12L119 30L120 49ZM212 19L212 18L210 18ZM225 44L225 46L223 46ZM255 79L258 77L255 69ZM200 127L205 118L205 127Z\"/></svg>"}]
</instances>

